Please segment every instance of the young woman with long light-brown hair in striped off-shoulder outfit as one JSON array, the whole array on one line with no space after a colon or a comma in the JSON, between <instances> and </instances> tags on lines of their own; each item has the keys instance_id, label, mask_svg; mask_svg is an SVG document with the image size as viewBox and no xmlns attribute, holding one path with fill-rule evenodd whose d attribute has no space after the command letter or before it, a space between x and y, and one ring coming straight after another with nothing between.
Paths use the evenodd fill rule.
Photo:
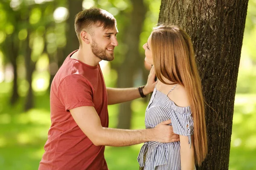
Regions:
<instances>
[{"instance_id":1,"label":"young woman with long light-brown hair in striped off-shoulder outfit","mask_svg":"<svg viewBox=\"0 0 256 170\"><path fill-rule=\"evenodd\" d=\"M144 170L195 170L207 155L204 99L192 42L177 26L160 25L148 37L145 61L158 78L145 113L146 128L171 119L180 142L146 142L138 162ZM144 159L145 158L145 159Z\"/></svg>"}]
</instances>

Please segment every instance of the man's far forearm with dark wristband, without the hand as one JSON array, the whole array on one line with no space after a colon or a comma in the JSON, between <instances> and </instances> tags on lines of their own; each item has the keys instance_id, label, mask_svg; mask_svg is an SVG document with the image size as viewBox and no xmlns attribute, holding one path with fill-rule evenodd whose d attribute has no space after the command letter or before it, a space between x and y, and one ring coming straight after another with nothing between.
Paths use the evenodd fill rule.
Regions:
<instances>
[{"instance_id":1,"label":"man's far forearm with dark wristband, without the hand","mask_svg":"<svg viewBox=\"0 0 256 170\"><path fill-rule=\"evenodd\" d=\"M107 91L108 105L128 102L141 97L138 88L107 88ZM143 93L147 95L145 89L143 89Z\"/></svg>"}]
</instances>

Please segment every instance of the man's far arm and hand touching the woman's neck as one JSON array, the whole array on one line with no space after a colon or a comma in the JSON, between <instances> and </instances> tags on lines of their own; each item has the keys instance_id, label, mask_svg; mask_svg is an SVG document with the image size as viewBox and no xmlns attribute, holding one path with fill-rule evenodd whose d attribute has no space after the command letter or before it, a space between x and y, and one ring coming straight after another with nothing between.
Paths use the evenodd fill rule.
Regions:
<instances>
[{"instance_id":1,"label":"man's far arm and hand touching the woman's neck","mask_svg":"<svg viewBox=\"0 0 256 170\"><path fill-rule=\"evenodd\" d=\"M155 71L154 68L151 68L148 81L145 87L142 89L143 94L146 96L150 94L156 85L155 82ZM138 88L107 88L108 92L108 105L113 105L122 102L128 102L133 99L140 97Z\"/></svg>"}]
</instances>

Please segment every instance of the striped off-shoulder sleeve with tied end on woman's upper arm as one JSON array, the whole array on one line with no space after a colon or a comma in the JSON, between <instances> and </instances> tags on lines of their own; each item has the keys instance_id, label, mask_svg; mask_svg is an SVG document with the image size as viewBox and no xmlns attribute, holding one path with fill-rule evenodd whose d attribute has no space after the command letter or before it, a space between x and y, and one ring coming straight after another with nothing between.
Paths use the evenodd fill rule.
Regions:
<instances>
[{"instance_id":1,"label":"striped off-shoulder sleeve with tied end on woman's upper arm","mask_svg":"<svg viewBox=\"0 0 256 170\"><path fill-rule=\"evenodd\" d=\"M191 148L191 135L194 133L194 122L190 107L175 106L175 109L172 110L172 112L171 120L173 132L178 135L188 136L188 143Z\"/></svg>"}]
</instances>

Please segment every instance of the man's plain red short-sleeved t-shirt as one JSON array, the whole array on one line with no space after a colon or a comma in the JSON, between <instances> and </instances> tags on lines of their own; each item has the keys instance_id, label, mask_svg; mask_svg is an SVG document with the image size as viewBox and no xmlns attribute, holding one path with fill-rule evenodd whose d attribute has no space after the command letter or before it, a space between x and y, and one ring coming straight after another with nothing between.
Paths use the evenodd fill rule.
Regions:
<instances>
[{"instance_id":1,"label":"man's plain red short-sleeved t-shirt","mask_svg":"<svg viewBox=\"0 0 256 170\"><path fill-rule=\"evenodd\" d=\"M39 170L108 170L105 146L95 146L69 112L80 106L94 106L102 127L108 127L108 96L102 71L99 65L71 59L74 52L52 81L52 124Z\"/></svg>"}]
</instances>

